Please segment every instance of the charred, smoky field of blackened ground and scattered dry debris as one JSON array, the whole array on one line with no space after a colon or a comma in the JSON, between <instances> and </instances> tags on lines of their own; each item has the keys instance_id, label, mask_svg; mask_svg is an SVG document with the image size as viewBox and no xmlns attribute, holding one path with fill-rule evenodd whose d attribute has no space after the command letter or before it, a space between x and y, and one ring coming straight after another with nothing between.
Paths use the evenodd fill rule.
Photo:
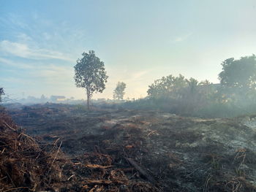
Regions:
<instances>
[{"instance_id":1,"label":"charred, smoky field of blackened ground and scattered dry debris","mask_svg":"<svg viewBox=\"0 0 256 192\"><path fill-rule=\"evenodd\" d=\"M4 177L2 170L2 191L7 186L12 191L60 192L256 191L253 116L200 119L156 111L87 112L63 104L10 106L7 112L18 125L12 132L33 138L38 146L34 150L47 152L49 161L37 165L45 166L46 173L38 174L47 180L28 177L26 185L14 178L24 179L25 169L13 178ZM11 131L6 125L1 130L7 129ZM19 134L13 139L19 142ZM1 158L7 151L3 146ZM16 161L24 159L16 157L10 164Z\"/></svg>"}]
</instances>

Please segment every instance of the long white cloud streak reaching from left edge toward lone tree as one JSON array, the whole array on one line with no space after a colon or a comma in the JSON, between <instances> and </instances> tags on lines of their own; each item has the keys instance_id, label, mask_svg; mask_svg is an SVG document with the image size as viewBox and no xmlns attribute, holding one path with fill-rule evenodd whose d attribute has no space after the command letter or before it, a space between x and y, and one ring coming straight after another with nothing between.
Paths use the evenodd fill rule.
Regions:
<instances>
[{"instance_id":1,"label":"long white cloud streak reaching from left edge toward lone tree","mask_svg":"<svg viewBox=\"0 0 256 192\"><path fill-rule=\"evenodd\" d=\"M64 53L56 52L53 50L31 48L27 44L10 42L8 40L3 40L0 42L0 50L7 55L14 55L21 58L29 58L35 60L55 58L64 61L75 61L72 58L68 58L66 55L64 55Z\"/></svg>"}]
</instances>

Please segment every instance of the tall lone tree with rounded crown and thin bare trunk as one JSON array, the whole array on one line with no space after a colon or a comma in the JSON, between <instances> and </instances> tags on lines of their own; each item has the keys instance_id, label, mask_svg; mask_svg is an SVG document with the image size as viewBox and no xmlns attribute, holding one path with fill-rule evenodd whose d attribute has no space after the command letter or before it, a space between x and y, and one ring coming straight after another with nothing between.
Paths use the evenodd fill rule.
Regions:
<instances>
[{"instance_id":1,"label":"tall lone tree with rounded crown and thin bare trunk","mask_svg":"<svg viewBox=\"0 0 256 192\"><path fill-rule=\"evenodd\" d=\"M93 93L102 93L105 83L108 80L105 72L104 62L95 55L94 50L89 53L82 53L83 58L78 58L75 68L75 85L78 88L85 88L87 96L87 107Z\"/></svg>"}]
</instances>

